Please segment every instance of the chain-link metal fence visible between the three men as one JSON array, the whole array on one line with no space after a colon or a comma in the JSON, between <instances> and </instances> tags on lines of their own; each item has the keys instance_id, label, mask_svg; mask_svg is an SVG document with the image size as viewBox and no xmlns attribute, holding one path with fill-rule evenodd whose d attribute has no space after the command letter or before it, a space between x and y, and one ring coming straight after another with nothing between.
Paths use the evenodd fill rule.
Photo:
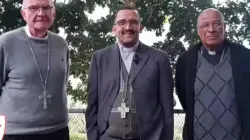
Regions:
<instances>
[{"instance_id":1,"label":"chain-link metal fence visible between the three men","mask_svg":"<svg viewBox=\"0 0 250 140\"><path fill-rule=\"evenodd\" d=\"M183 110L174 110L174 140L182 140L182 128L185 114ZM69 110L70 140L87 140L84 109Z\"/></svg>"}]
</instances>

